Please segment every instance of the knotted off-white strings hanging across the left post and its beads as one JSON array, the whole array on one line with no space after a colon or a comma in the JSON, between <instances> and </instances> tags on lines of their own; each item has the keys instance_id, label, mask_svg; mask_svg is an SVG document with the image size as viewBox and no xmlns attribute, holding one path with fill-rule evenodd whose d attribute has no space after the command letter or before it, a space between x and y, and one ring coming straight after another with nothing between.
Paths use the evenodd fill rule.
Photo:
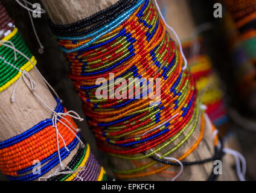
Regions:
<instances>
[{"instance_id":1,"label":"knotted off-white strings hanging across the left post and its beads","mask_svg":"<svg viewBox=\"0 0 256 193\"><path fill-rule=\"evenodd\" d=\"M11 43L11 46L6 44L6 43ZM36 66L34 65L34 63L27 57L27 55L23 54L21 51L19 51L18 49L15 48L15 46L13 45L12 42L10 41L2 41L0 40L0 45L2 46L7 46L8 48L13 49L14 51L14 60L17 60L16 57L16 52L18 52L19 54L21 54L23 57L25 57L25 59L27 59L28 61L30 61L30 63L34 66L34 68L36 68ZM4 60L4 63L6 63L7 65L10 65L13 68L18 69L16 66L14 66L13 64L7 62L3 57L0 56L0 59ZM66 113L57 113L55 110L51 109L51 107L49 107L43 100L42 98L40 98L39 95L37 95L34 91L37 89L37 83L31 78L30 74L27 71L21 71L21 69L18 69L19 72L21 72L21 77L18 79L18 81L16 81L14 88L13 88L13 93L11 95L11 102L14 103L14 92L19 84L19 82L22 80L24 80L24 83L27 85L28 89L30 89L30 91L33 93L34 96L36 96L37 100L40 101L40 103L43 104L43 106L45 106L47 109L49 109L51 112L53 112L53 118L52 118L52 122L53 122L53 127L56 128L56 138L57 138L57 149L58 149L58 154L59 154L59 162L60 162L60 168L65 169L63 163L62 163L62 159L60 156L60 148L59 148L59 136L60 138L62 138L63 143L65 145L65 148L67 151L68 148L66 147L65 141L63 139L63 137L60 135L59 130L57 128L57 121L59 121L60 123L62 123L63 125L65 125L74 135L75 137L78 139L78 141L80 141L80 144L83 144L83 142L81 141L81 139L77 136L77 134L74 133L73 130L75 131L80 131L80 129L76 129L71 122L68 121L68 119L65 118L65 116L71 116L71 118L77 119L78 121L83 121L83 118L81 118L77 113L75 113L74 111L68 111ZM36 68L37 72L38 69ZM42 74L39 75L43 78ZM43 80L45 81L45 83L51 88L51 90L53 90L53 92L56 94L56 96L59 98L59 96L57 95L56 91L53 89L53 87L50 86L50 84L45 80L45 78L43 78ZM72 115L72 114L74 115ZM71 127L67 124L65 124L65 122L61 121L60 118L65 119L66 122L68 122L69 125L71 125Z\"/></svg>"}]
</instances>

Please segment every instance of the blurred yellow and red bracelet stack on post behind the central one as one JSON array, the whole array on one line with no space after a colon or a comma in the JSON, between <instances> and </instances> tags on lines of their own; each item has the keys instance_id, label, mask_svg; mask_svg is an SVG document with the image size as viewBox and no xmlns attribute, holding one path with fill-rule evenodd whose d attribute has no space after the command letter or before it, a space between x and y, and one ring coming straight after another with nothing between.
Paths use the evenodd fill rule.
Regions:
<instances>
[{"instance_id":1,"label":"blurred yellow and red bracelet stack on post behind the central one","mask_svg":"<svg viewBox=\"0 0 256 193\"><path fill-rule=\"evenodd\" d=\"M191 55L193 49L193 41L187 40L182 43L185 55L187 55L188 65L190 66L191 74L196 81L196 88L202 104L205 104L207 109L205 112L216 127L221 127L228 122L226 115L225 102L223 101L223 92L220 89L219 78L214 72L210 57L206 55L202 40L198 38L199 52L196 55Z\"/></svg>"}]
</instances>

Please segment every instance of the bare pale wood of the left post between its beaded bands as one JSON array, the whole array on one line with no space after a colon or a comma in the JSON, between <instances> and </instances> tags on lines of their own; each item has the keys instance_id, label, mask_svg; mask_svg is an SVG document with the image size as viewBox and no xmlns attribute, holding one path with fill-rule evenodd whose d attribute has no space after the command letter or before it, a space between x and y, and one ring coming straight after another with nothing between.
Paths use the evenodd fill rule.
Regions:
<instances>
[{"instance_id":1,"label":"bare pale wood of the left post between its beaded bands","mask_svg":"<svg viewBox=\"0 0 256 193\"><path fill-rule=\"evenodd\" d=\"M40 77L36 69L29 72L31 78L38 84L35 93L51 108L55 109L57 103L50 90ZM16 83L14 83L16 84ZM23 133L44 119L52 117L52 112L46 109L39 100L31 93L23 80L16 87L14 93L14 103L11 103L10 97L13 92L14 84L0 93L0 141L5 141L13 136ZM66 166L78 146L72 151L63 164ZM51 174L56 167L47 172L44 176Z\"/></svg>"}]
</instances>

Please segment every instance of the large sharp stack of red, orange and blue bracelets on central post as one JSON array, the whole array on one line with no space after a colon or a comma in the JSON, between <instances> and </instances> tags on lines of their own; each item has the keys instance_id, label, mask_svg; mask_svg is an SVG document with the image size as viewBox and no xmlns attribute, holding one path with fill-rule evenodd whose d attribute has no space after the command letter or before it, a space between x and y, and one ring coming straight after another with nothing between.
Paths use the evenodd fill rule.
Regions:
<instances>
[{"instance_id":1,"label":"large sharp stack of red, orange and blue bracelets on central post","mask_svg":"<svg viewBox=\"0 0 256 193\"><path fill-rule=\"evenodd\" d=\"M200 115L195 83L190 72L182 70L184 61L181 53L166 33L151 0L120 0L106 10L73 24L57 25L50 21L50 27L68 63L69 77L83 101L83 110L98 148L120 159L150 159L150 163L133 169L113 168L117 177L149 176L171 165L179 165L164 157L178 150L200 125L199 138L178 159L184 159L197 148L203 137L205 119ZM161 103L150 106L149 98L142 99L149 90L144 93L138 91L141 99L112 98L111 90L118 89L120 84L114 84L110 73L114 74L115 80L161 78ZM105 78L106 82L95 85L97 78ZM103 92L109 93L107 98L96 97L100 86ZM131 89L135 86L132 85ZM139 86L142 88L143 84ZM128 94L128 90L124 93ZM179 136L184 138L176 143ZM159 157L155 156L174 141L176 145L173 148L161 152ZM217 149L217 136L214 145L214 157L182 163L193 165L210 162L216 157L220 159L223 153ZM156 163L164 166L143 172ZM210 180L215 177L212 174Z\"/></svg>"}]
</instances>

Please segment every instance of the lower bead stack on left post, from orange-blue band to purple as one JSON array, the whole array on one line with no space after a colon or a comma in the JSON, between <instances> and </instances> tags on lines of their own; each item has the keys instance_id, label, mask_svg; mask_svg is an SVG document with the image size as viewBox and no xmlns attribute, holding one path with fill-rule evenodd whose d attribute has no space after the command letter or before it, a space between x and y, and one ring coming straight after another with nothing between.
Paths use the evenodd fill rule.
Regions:
<instances>
[{"instance_id":1,"label":"lower bead stack on left post, from orange-blue band to purple","mask_svg":"<svg viewBox=\"0 0 256 193\"><path fill-rule=\"evenodd\" d=\"M65 113L66 110L62 103L60 103L60 100L56 98L56 101L56 113ZM72 118L69 116L65 119L60 119L60 121L64 122L66 125L70 123L74 128L77 128L74 121L72 121ZM57 128L63 140L59 142L60 156L63 160L72 150L74 150L79 141L75 138L75 135L71 130L65 127L64 124L60 123L60 121L57 122ZM52 124L52 119L46 119L24 133L0 142L0 169L7 175L8 179L25 181L35 180L59 164L56 132ZM76 134L78 138L80 138L80 134ZM83 151L85 151L84 154ZM90 156L89 162L87 162L89 157L88 155ZM78 158L80 161L77 161ZM40 164L43 165L40 169L40 174L30 173L34 168L34 160L39 160ZM74 165L74 162L77 162L75 165L78 166L74 166L73 169L77 169L80 166L84 166L85 169L81 172L72 174L71 176L73 179L76 176L78 177L82 175L81 179L83 180L106 180L104 169L99 165L97 160L95 160L88 144L86 144L85 148L81 146L78 148L77 153L71 162L68 163L68 166ZM81 162L82 165L80 164ZM100 169L95 170L95 167ZM63 180L68 178L69 180L73 180L70 179L69 176L70 174L66 174L63 176L53 177L51 180Z\"/></svg>"}]
</instances>

